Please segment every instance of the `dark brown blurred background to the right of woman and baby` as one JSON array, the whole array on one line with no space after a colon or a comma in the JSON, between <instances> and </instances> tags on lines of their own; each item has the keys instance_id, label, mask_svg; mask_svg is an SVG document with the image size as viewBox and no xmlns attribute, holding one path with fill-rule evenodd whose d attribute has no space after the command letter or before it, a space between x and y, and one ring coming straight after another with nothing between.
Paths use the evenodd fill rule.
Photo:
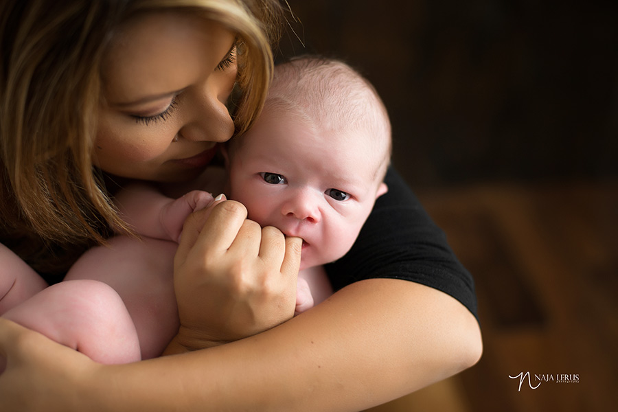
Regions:
<instances>
[{"instance_id":1,"label":"dark brown blurred background to the right of woman and baby","mask_svg":"<svg viewBox=\"0 0 618 412\"><path fill-rule=\"evenodd\" d=\"M279 57L376 86L393 164L477 285L481 362L371 411L615 410L618 2L289 4ZM518 391L526 371L578 379Z\"/></svg>"}]
</instances>

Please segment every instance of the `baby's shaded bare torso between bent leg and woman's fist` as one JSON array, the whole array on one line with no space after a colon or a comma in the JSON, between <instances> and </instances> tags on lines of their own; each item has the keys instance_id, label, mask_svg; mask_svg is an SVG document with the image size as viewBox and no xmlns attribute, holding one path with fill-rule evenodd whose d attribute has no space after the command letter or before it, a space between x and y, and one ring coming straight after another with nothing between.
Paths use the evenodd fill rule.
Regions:
<instances>
[{"instance_id":1,"label":"baby's shaded bare torso between bent leg and woman's fist","mask_svg":"<svg viewBox=\"0 0 618 412\"><path fill-rule=\"evenodd\" d=\"M118 236L90 249L66 280L95 279L111 286L133 319L141 358L160 356L179 328L174 294L174 242Z\"/></svg>"}]
</instances>

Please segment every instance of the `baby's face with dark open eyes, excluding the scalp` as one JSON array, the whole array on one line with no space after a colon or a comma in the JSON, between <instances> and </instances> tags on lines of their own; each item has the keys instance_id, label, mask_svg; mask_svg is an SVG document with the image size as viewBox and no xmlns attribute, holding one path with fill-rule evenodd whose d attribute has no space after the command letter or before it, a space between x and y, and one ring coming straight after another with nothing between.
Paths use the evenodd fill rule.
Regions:
<instances>
[{"instance_id":1,"label":"baby's face with dark open eyes, excluding the scalp","mask_svg":"<svg viewBox=\"0 0 618 412\"><path fill-rule=\"evenodd\" d=\"M249 218L304 240L301 269L341 258L386 186L366 137L334 135L264 111L229 163L230 198ZM356 142L356 144L354 143Z\"/></svg>"}]
</instances>

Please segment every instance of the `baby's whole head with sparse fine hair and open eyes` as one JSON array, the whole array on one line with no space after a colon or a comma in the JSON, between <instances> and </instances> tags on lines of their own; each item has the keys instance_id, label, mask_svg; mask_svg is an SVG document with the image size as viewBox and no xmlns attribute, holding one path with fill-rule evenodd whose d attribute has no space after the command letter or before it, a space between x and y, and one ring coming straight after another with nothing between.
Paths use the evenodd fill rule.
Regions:
<instances>
[{"instance_id":1,"label":"baby's whole head with sparse fine hair and open eyes","mask_svg":"<svg viewBox=\"0 0 618 412\"><path fill-rule=\"evenodd\" d=\"M387 191L391 127L360 74L303 57L275 68L264 111L228 151L230 198L260 225L303 238L307 268L345 255Z\"/></svg>"}]
</instances>

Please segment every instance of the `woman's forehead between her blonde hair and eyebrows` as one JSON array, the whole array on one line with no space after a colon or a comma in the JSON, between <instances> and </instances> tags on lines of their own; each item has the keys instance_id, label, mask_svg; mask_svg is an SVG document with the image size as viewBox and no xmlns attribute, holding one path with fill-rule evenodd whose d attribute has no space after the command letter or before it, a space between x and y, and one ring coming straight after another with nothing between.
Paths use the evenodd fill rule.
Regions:
<instances>
[{"instance_id":1,"label":"woman's forehead between her blonde hair and eyebrows","mask_svg":"<svg viewBox=\"0 0 618 412\"><path fill-rule=\"evenodd\" d=\"M122 26L102 66L105 94L117 102L172 93L211 71L233 43L218 23L181 13L150 13Z\"/></svg>"}]
</instances>

